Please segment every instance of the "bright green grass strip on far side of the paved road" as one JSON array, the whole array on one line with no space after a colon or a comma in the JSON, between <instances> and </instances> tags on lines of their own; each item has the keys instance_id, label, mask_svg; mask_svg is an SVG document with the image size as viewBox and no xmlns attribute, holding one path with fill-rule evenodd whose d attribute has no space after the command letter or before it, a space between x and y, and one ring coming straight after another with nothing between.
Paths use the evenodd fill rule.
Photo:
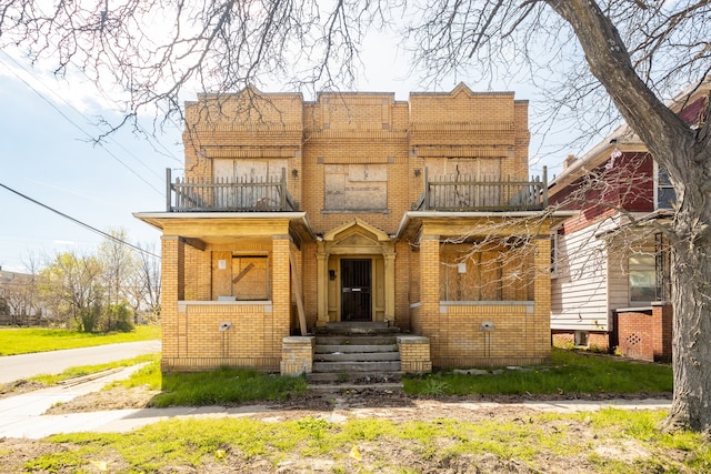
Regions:
<instances>
[{"instance_id":1,"label":"bright green grass strip on far side of the paved road","mask_svg":"<svg viewBox=\"0 0 711 474\"><path fill-rule=\"evenodd\" d=\"M4 327L0 329L0 355L29 354L154 339L160 339L160 326L140 325L128 333L84 333L70 330Z\"/></svg>"}]
</instances>

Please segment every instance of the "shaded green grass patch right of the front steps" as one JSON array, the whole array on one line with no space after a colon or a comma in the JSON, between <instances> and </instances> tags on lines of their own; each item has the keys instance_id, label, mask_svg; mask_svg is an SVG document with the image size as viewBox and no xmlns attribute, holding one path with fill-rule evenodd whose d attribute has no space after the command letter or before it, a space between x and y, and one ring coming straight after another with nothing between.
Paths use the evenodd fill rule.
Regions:
<instances>
[{"instance_id":1,"label":"shaded green grass patch right of the front steps","mask_svg":"<svg viewBox=\"0 0 711 474\"><path fill-rule=\"evenodd\" d=\"M488 375L441 372L405 377L404 391L417 395L661 393L671 392L670 365L552 349L552 364L499 369Z\"/></svg>"}]
</instances>

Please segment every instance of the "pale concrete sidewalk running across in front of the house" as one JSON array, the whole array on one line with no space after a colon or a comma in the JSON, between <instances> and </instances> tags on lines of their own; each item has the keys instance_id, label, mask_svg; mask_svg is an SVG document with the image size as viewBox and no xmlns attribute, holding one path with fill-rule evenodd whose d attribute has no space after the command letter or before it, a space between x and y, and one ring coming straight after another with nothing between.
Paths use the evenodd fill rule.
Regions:
<instances>
[{"instance_id":1,"label":"pale concrete sidewalk running across in front of the house","mask_svg":"<svg viewBox=\"0 0 711 474\"><path fill-rule=\"evenodd\" d=\"M37 392L7 397L0 400L0 438L2 437L24 437L42 438L59 433L97 432L97 433L123 433L147 424L162 420L177 417L200 418L200 417L243 417L269 412L278 412L278 406L247 405L239 407L224 406L202 406L202 407L171 407L171 409L134 409L113 410L91 413L72 413L66 415L43 415L53 404L68 402L77 396L97 392L101 387L114 380L128 377L132 371L140 365L126 367L121 371L108 374L93 381L84 382L73 386L54 386ZM457 402L459 407L465 410L492 410L495 407L521 406L540 412L581 412L597 411L603 407L613 406L625 410L669 410L669 400L608 400L608 401L551 401L551 402L525 402L520 404L502 404L491 402ZM349 407L342 403L337 403L332 412L324 412L322 417L330 422L343 422L349 417L368 417L373 413L399 410L421 410L422 407L378 407L360 409ZM279 421L274 416L273 421Z\"/></svg>"}]
</instances>

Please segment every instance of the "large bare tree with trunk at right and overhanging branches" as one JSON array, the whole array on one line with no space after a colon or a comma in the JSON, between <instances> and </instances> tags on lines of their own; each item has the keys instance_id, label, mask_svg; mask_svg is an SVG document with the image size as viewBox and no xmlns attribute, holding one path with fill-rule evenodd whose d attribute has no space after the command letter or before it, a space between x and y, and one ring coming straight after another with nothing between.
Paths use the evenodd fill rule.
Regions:
<instances>
[{"instance_id":1,"label":"large bare tree with trunk at right and overhanging branches","mask_svg":"<svg viewBox=\"0 0 711 474\"><path fill-rule=\"evenodd\" d=\"M128 94L126 121L150 107L181 115L186 90L221 93L267 79L292 88L349 85L363 36L392 19L408 22L413 71L431 81L452 71L529 78L547 92L549 118L568 117L578 125L571 133L588 139L615 119L614 104L668 170L678 198L670 231L675 384L669 425L711 430L711 125L702 120L692 130L663 102L679 84L710 72L711 2L322 4L6 0L0 42L24 47L33 59L58 58L58 72L77 67L98 83L119 84Z\"/></svg>"}]
</instances>

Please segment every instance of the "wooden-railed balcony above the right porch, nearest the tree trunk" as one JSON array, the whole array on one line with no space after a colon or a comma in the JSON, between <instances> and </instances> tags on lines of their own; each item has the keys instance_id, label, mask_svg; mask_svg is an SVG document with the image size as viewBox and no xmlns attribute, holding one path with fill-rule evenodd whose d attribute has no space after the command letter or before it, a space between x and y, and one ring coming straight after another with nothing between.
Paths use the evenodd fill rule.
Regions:
<instances>
[{"instance_id":1,"label":"wooden-railed balcony above the right porch, nearest the tree trunk","mask_svg":"<svg viewBox=\"0 0 711 474\"><path fill-rule=\"evenodd\" d=\"M532 181L488 181L457 174L428 177L415 211L541 211L548 208L548 177Z\"/></svg>"}]
</instances>

